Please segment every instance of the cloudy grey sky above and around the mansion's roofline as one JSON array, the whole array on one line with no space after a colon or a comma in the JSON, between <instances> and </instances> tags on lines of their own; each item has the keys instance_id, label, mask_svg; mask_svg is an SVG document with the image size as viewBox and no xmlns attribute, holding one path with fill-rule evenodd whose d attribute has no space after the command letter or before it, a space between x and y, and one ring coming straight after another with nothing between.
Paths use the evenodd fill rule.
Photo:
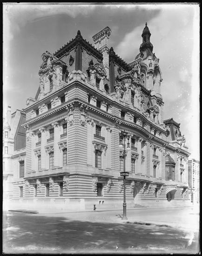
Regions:
<instances>
[{"instance_id":1,"label":"cloudy grey sky above and around the mansion's roofline","mask_svg":"<svg viewBox=\"0 0 202 256\"><path fill-rule=\"evenodd\" d=\"M39 87L41 54L54 53L77 31L92 36L110 27L109 47L134 61L145 22L153 53L160 59L164 120L180 123L191 158L199 159L199 5L197 4L29 4L3 5L3 107L26 108Z\"/></svg>"}]
</instances>

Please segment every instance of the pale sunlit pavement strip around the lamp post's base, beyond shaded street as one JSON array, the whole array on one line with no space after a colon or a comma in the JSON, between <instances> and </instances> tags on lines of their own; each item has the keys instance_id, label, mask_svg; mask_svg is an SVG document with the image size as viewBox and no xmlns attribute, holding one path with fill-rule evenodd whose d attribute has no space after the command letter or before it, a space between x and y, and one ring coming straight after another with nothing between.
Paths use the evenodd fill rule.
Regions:
<instances>
[{"instance_id":1,"label":"pale sunlit pavement strip around the lamp post's base, beyond shaded street","mask_svg":"<svg viewBox=\"0 0 202 256\"><path fill-rule=\"evenodd\" d=\"M109 209L85 212L40 213L50 217L65 217L67 221L134 223L175 227L177 229L199 230L199 212L193 207L174 208L132 208L127 209L128 220L122 220L122 209Z\"/></svg>"}]
</instances>

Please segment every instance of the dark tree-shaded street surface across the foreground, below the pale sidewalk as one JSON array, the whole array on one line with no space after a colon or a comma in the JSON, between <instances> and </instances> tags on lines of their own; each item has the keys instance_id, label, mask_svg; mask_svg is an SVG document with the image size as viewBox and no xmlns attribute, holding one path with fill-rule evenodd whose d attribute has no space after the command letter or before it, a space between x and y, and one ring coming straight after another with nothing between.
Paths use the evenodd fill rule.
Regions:
<instances>
[{"instance_id":1,"label":"dark tree-shaded street surface across the foreground, below the pale sidewalk","mask_svg":"<svg viewBox=\"0 0 202 256\"><path fill-rule=\"evenodd\" d=\"M3 215L4 253L198 253L198 237L171 227Z\"/></svg>"}]
</instances>

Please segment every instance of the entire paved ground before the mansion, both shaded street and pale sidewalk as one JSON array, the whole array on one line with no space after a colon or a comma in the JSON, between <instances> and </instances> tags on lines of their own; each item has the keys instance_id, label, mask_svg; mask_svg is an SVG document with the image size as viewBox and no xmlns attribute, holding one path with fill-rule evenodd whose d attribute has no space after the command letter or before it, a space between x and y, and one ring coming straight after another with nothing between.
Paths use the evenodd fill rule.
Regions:
<instances>
[{"instance_id":1,"label":"entire paved ground before the mansion, both shaded street and pale sidewalk","mask_svg":"<svg viewBox=\"0 0 202 256\"><path fill-rule=\"evenodd\" d=\"M121 214L121 210L49 215L6 212L3 249L6 253L199 251L198 215L190 208L128 210L130 223L123 222ZM192 227L183 226L183 218ZM137 221L144 224L134 224ZM168 226L160 226L162 223Z\"/></svg>"}]
</instances>

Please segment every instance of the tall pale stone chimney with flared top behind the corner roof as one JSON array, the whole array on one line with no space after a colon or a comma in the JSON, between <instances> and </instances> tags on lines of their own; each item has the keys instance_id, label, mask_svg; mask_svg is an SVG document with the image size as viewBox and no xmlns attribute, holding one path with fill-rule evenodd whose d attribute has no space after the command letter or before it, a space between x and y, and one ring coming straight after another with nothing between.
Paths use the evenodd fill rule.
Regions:
<instances>
[{"instance_id":1,"label":"tall pale stone chimney with flared top behind the corner roof","mask_svg":"<svg viewBox=\"0 0 202 256\"><path fill-rule=\"evenodd\" d=\"M107 78L109 78L109 44L108 39L111 34L111 29L109 27L103 28L100 32L93 36L94 47L102 53L103 56L103 66L107 73Z\"/></svg>"}]
</instances>

